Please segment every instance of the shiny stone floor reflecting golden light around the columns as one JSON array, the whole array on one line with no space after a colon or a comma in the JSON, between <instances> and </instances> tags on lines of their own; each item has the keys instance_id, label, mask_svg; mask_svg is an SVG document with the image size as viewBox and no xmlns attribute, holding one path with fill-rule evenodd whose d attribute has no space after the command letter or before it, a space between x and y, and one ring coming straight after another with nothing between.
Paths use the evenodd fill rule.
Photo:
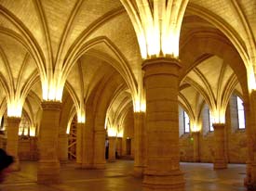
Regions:
<instances>
[{"instance_id":1,"label":"shiny stone floor reflecting golden light around the columns","mask_svg":"<svg viewBox=\"0 0 256 191\"><path fill-rule=\"evenodd\" d=\"M21 171L8 175L1 191L141 191L141 179L132 176L133 161L107 163L106 170L79 170L74 163L61 165L60 185L37 185L36 162L21 162ZM229 164L227 170L213 171L209 163L181 163L186 191L244 191L246 167Z\"/></svg>"}]
</instances>

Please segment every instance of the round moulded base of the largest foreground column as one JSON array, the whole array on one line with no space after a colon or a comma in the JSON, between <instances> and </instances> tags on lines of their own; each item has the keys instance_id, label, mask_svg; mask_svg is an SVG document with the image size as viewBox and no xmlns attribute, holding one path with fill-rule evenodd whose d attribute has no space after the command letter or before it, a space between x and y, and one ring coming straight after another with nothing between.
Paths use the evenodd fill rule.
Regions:
<instances>
[{"instance_id":1,"label":"round moulded base of the largest foreground column","mask_svg":"<svg viewBox=\"0 0 256 191\"><path fill-rule=\"evenodd\" d=\"M180 170L144 173L143 191L184 191L184 186L183 173Z\"/></svg>"}]
</instances>

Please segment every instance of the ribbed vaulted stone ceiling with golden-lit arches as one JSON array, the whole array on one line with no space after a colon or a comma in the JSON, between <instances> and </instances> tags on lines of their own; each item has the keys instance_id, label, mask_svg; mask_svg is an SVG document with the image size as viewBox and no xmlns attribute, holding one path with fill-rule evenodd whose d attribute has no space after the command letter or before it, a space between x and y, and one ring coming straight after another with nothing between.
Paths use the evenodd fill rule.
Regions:
<instances>
[{"instance_id":1,"label":"ribbed vaulted stone ceiling with golden-lit arches","mask_svg":"<svg viewBox=\"0 0 256 191\"><path fill-rule=\"evenodd\" d=\"M255 54L255 1L212 4L190 0L182 21L179 100L195 116L197 103L214 107L211 103L223 95L228 99L235 89L248 94L246 66L248 55ZM142 59L120 1L1 0L0 13L0 116L7 97L20 93L35 125L41 80L54 69L66 76L65 91L77 107L107 75L120 75L108 113L113 121L123 118L119 113L131 107L142 78Z\"/></svg>"}]
</instances>

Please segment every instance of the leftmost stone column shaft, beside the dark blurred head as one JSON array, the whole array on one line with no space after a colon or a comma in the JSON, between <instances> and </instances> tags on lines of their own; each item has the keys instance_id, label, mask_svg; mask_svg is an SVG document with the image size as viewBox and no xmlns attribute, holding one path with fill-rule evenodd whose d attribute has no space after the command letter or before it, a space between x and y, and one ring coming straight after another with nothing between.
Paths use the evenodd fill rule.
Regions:
<instances>
[{"instance_id":1,"label":"leftmost stone column shaft, beside the dark blurred head","mask_svg":"<svg viewBox=\"0 0 256 191\"><path fill-rule=\"evenodd\" d=\"M15 162L10 166L11 171L20 171L19 147L20 118L7 117L7 153L14 157Z\"/></svg>"}]
</instances>

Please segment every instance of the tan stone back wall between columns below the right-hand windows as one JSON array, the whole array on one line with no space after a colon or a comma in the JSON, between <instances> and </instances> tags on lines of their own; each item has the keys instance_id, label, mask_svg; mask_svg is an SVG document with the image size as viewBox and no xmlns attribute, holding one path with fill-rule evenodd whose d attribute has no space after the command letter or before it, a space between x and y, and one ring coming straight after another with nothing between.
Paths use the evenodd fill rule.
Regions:
<instances>
[{"instance_id":1,"label":"tan stone back wall between columns below the right-hand windows","mask_svg":"<svg viewBox=\"0 0 256 191\"><path fill-rule=\"evenodd\" d=\"M237 115L234 97L226 110L225 147L226 158L230 163L245 163L247 159L247 143L245 130L237 127ZM204 108L201 119L202 129L199 134L199 160L200 162L212 162L214 156L214 133L209 132L207 108ZM193 161L194 148L191 134L180 136L181 161Z\"/></svg>"}]
</instances>

